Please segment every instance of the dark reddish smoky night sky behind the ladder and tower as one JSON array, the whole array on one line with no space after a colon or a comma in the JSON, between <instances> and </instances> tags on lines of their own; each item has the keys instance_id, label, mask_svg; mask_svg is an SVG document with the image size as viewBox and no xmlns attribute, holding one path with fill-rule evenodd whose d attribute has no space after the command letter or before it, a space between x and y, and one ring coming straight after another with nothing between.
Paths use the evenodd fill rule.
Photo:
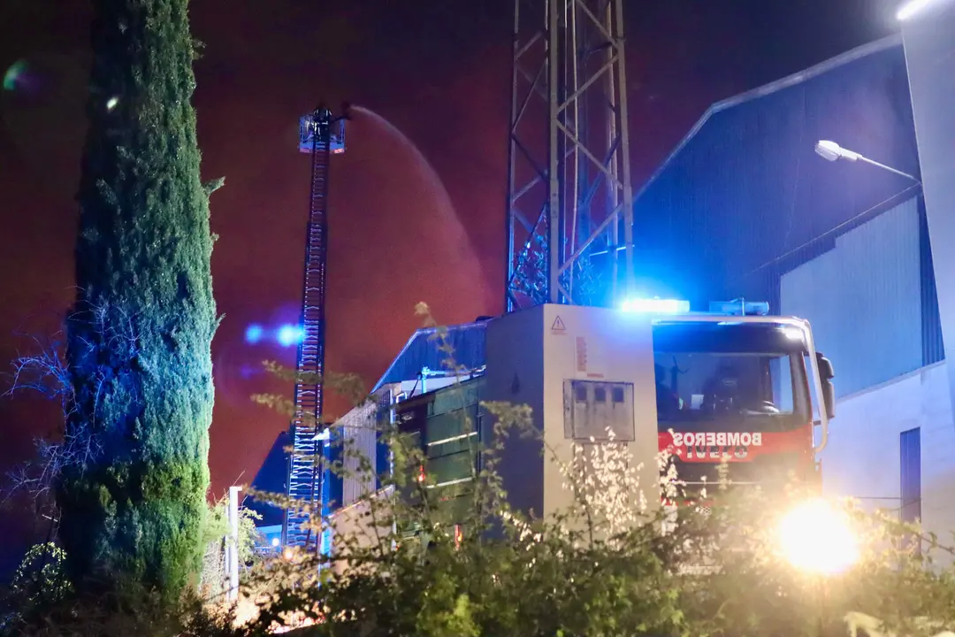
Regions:
<instances>
[{"instance_id":1,"label":"dark reddish smoky night sky behind the ladder and tower","mask_svg":"<svg viewBox=\"0 0 955 637\"><path fill-rule=\"evenodd\" d=\"M541 0L542 2L543 0ZM3 0L0 73L0 371L71 302L74 191L85 130L90 7ZM500 311L510 88L510 0L194 0L204 43L194 99L212 196L218 496L254 476L281 415L249 394L294 351L248 345L250 323L297 320L308 158L298 117L325 99L358 111L334 158L328 368L373 383L418 326ZM894 0L627 0L634 183L711 102L895 30ZM386 122L391 122L389 125ZM0 380L0 391L9 388ZM341 406L338 406L340 409ZM56 430L55 405L0 399L0 468ZM6 517L6 514L4 514ZM6 542L5 542L6 543ZM2 565L2 564L0 564Z\"/></svg>"}]
</instances>

